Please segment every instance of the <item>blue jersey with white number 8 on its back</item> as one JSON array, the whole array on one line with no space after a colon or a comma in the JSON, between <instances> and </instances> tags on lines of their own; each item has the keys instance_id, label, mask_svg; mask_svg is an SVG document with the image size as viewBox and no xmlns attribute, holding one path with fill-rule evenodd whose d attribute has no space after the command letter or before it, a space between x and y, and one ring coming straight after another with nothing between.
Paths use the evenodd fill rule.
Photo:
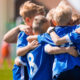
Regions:
<instances>
[{"instance_id":1,"label":"blue jersey with white number 8 on its back","mask_svg":"<svg viewBox=\"0 0 80 80\"><path fill-rule=\"evenodd\" d=\"M24 34L24 32L23 32ZM23 38L23 37L22 37ZM24 35L22 43L18 38L20 47L27 45L27 35ZM25 42L23 44L23 42ZM17 48L19 48L17 44ZM44 51L45 44L40 44L37 48L29 51L24 57L20 57L21 61L26 62L29 80L52 80L52 65L54 57Z\"/></svg>"}]
</instances>

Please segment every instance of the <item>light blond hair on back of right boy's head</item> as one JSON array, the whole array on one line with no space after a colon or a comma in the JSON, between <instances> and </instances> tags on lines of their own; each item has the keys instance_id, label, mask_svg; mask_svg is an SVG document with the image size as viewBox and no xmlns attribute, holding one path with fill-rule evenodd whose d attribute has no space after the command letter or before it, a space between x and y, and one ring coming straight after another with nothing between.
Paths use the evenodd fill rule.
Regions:
<instances>
[{"instance_id":1,"label":"light blond hair on back of right boy's head","mask_svg":"<svg viewBox=\"0 0 80 80\"><path fill-rule=\"evenodd\" d=\"M62 5L63 3L64 2L61 2L59 4L53 15L53 20L60 26L67 25L72 17L72 8L66 4Z\"/></svg>"}]
</instances>

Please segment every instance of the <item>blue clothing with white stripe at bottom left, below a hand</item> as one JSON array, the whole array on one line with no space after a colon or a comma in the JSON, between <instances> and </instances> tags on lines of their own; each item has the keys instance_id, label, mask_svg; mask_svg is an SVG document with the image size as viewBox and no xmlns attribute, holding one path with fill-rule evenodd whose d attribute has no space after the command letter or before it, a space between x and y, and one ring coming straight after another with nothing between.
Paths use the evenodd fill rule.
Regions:
<instances>
[{"instance_id":1,"label":"blue clothing with white stripe at bottom left, below a hand","mask_svg":"<svg viewBox=\"0 0 80 80\"><path fill-rule=\"evenodd\" d=\"M28 80L27 67L24 65L18 66L14 64L13 67L13 80Z\"/></svg>"}]
</instances>

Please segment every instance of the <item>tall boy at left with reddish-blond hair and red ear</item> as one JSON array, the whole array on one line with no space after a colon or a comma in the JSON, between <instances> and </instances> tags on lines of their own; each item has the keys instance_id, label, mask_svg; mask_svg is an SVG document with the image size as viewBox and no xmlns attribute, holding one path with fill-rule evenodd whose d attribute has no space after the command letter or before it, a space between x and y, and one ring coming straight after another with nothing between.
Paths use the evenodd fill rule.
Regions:
<instances>
[{"instance_id":1,"label":"tall boy at left with reddish-blond hair and red ear","mask_svg":"<svg viewBox=\"0 0 80 80\"><path fill-rule=\"evenodd\" d=\"M34 16L39 15L39 14L44 14L44 8L42 6L31 3L30 1L25 2L21 6L20 15L23 17L23 19L25 21L25 24L27 26L27 30L29 30L29 31L27 31L27 32L29 32L28 35L32 34L32 22L33 22ZM36 41L33 41L32 43L27 45L27 42L23 41L23 39L26 39L26 37L28 36L28 35L27 36L25 36L25 35L26 34L24 32L20 32L20 34L19 34L20 40L18 40L18 42L19 42L19 44L22 43L22 45L25 46L26 52L28 52L29 50L34 49L38 45L36 44ZM23 38L23 39L21 39L21 38ZM24 45L24 43L25 43L25 45ZM22 45L19 45L20 50L24 50L23 48L21 48ZM25 51L24 51L24 53L25 53ZM17 55L22 56L22 52L17 51ZM25 56L23 56L23 57L25 57ZM14 65L13 78L14 78L14 80L19 80L19 79L24 80L25 79L24 75L21 75L21 72L23 70L21 70L21 69L24 68L25 63L21 62L19 60L19 58L17 58L15 61L16 61L16 64L20 63L20 64L23 64L23 66L22 67L17 66L16 64Z\"/></svg>"}]
</instances>

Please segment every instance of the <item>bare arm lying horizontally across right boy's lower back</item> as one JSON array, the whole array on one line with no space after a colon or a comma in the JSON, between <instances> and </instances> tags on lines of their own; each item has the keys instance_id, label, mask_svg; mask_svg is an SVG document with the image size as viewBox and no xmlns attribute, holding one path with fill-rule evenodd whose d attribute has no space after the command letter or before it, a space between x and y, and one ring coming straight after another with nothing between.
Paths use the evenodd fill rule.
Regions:
<instances>
[{"instance_id":1,"label":"bare arm lying horizontally across right boy's lower back","mask_svg":"<svg viewBox=\"0 0 80 80\"><path fill-rule=\"evenodd\" d=\"M45 52L49 54L63 54L63 53L69 53L70 55L77 57L78 53L74 49L74 47L53 47L51 45L45 46Z\"/></svg>"}]
</instances>

